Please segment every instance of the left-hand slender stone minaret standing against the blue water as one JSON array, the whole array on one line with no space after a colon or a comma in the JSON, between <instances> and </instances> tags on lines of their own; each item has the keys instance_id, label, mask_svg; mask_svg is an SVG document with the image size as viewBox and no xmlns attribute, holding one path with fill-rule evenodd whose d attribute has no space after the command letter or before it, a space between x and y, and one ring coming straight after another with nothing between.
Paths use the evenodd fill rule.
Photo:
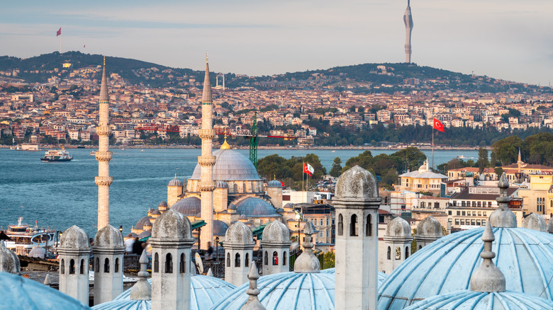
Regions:
<instances>
[{"instance_id":1,"label":"left-hand slender stone minaret standing against the blue water","mask_svg":"<svg viewBox=\"0 0 553 310\"><path fill-rule=\"evenodd\" d=\"M109 151L109 96L108 79L106 77L106 57L104 57L104 72L102 72L102 84L100 88L100 120L96 133L99 137L98 151L96 151L96 160L98 161L98 176L94 178L98 185L98 230L109 224L109 185L113 178L109 176L109 161L111 161L111 151Z\"/></svg>"}]
</instances>

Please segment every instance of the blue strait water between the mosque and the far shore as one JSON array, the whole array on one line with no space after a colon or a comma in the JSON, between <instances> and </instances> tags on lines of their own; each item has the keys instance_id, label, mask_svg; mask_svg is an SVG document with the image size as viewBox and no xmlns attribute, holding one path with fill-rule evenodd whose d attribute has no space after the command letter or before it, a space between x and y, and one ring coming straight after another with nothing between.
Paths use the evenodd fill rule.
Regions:
<instances>
[{"instance_id":1,"label":"blue strait water between the mosque and the far shore","mask_svg":"<svg viewBox=\"0 0 553 310\"><path fill-rule=\"evenodd\" d=\"M0 149L0 230L23 222L64 231L77 225L90 236L97 228L98 162L90 155L91 149L69 149L74 157L69 162L43 163L43 151L15 151ZM155 208L167 200L167 183L174 178L189 178L194 171L200 149L111 149L110 224L123 226L128 233L148 208ZM248 150L238 150L246 157ZM392 154L396 150L371 150L373 156ZM431 159L432 151L423 151ZM258 159L279 154L285 158L316 154L330 171L335 157L342 164L362 150L267 150L258 151ZM463 155L476 158L476 150L435 151L435 165Z\"/></svg>"}]
</instances>

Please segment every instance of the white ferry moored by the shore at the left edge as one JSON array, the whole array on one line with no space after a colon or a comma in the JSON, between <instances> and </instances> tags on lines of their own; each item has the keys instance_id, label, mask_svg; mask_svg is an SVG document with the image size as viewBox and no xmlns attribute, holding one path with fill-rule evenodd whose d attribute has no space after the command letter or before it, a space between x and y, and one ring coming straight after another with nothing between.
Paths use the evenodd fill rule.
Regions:
<instances>
[{"instance_id":1,"label":"white ferry moored by the shore at the left edge","mask_svg":"<svg viewBox=\"0 0 553 310\"><path fill-rule=\"evenodd\" d=\"M15 251L18 255L27 255L36 246L41 248L53 246L56 232L51 229L39 228L36 221L35 226L23 224L23 217L19 217L17 224L10 224L4 234L11 239L4 241L6 248Z\"/></svg>"}]
</instances>

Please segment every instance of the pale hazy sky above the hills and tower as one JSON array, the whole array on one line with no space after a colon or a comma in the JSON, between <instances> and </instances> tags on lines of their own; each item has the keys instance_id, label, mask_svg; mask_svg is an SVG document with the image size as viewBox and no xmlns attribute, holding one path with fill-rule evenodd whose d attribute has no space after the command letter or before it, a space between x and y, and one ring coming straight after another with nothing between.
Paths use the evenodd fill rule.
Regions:
<instances>
[{"instance_id":1,"label":"pale hazy sky above the hills and tower","mask_svg":"<svg viewBox=\"0 0 553 310\"><path fill-rule=\"evenodd\" d=\"M407 1L3 1L0 54L128 57L169 67L270 75L403 62ZM549 85L552 0L412 0L419 65ZM86 45L86 47L83 47Z\"/></svg>"}]
</instances>

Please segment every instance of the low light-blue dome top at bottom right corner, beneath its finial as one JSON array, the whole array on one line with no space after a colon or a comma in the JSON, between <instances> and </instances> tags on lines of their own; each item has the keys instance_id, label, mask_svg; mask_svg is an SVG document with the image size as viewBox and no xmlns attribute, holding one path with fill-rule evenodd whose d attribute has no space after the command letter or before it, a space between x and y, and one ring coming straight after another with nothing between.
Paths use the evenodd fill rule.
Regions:
<instances>
[{"instance_id":1,"label":"low light-blue dome top at bottom right corner, beneath its finial","mask_svg":"<svg viewBox=\"0 0 553 310\"><path fill-rule=\"evenodd\" d=\"M405 310L467 309L467 310L543 310L553 309L553 302L519 292L458 291L430 297L408 306Z\"/></svg>"}]
</instances>

